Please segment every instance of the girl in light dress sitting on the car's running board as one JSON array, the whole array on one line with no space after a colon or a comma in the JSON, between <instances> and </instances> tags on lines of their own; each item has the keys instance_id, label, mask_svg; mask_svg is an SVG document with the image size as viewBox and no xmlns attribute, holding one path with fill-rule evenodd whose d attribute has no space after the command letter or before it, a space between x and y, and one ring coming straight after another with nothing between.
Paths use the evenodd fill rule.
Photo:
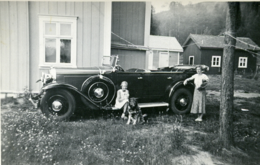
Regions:
<instances>
[{"instance_id":1,"label":"girl in light dress sitting on the car's running board","mask_svg":"<svg viewBox=\"0 0 260 165\"><path fill-rule=\"evenodd\" d=\"M121 109L122 107L124 107L124 112L121 116L121 118L123 119L125 117L126 111L127 111L127 107L128 107L128 98L129 98L129 91L127 90L127 82L123 81L121 83L121 87L122 89L117 91L117 99L116 99L116 104L115 107L118 109Z\"/></svg>"}]
</instances>

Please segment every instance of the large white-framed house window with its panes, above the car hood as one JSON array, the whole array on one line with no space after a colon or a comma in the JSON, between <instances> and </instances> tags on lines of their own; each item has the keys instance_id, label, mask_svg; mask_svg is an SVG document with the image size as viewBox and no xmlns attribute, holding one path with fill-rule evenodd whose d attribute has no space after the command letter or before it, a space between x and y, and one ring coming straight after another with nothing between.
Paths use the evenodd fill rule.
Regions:
<instances>
[{"instance_id":1,"label":"large white-framed house window with its panes, above the car hood","mask_svg":"<svg viewBox=\"0 0 260 165\"><path fill-rule=\"evenodd\" d=\"M77 17L39 15L39 67L77 67Z\"/></svg>"}]
</instances>

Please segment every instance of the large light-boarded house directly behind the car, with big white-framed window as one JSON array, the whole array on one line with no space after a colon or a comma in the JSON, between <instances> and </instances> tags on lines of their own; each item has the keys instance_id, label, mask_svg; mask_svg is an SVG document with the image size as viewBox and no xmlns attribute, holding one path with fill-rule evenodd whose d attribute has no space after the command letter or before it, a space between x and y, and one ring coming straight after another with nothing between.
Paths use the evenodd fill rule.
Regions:
<instances>
[{"instance_id":1,"label":"large light-boarded house directly behind the car, with big white-framed window","mask_svg":"<svg viewBox=\"0 0 260 165\"><path fill-rule=\"evenodd\" d=\"M51 66L100 66L104 57L108 63L111 51L121 50L111 44L122 44L111 32L147 47L150 17L151 2L0 1L1 94L25 86L37 93L36 81ZM142 51L140 65L129 68L146 67Z\"/></svg>"}]
</instances>

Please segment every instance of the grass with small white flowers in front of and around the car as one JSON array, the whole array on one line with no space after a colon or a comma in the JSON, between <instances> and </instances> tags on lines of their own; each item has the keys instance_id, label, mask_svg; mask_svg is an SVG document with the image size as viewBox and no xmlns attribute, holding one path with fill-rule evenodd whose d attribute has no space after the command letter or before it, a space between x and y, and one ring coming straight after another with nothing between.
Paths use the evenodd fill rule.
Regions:
<instances>
[{"instance_id":1,"label":"grass with small white flowers in front of and around the car","mask_svg":"<svg viewBox=\"0 0 260 165\"><path fill-rule=\"evenodd\" d=\"M209 78L207 89L219 91L220 76ZM235 77L234 90L260 93L259 82ZM1 100L1 163L184 165L205 151L221 162L218 164L259 164L260 97L234 98L232 150L222 149L217 140L218 97L207 95L201 123L194 121L193 114L179 116L165 108L147 108L143 113L149 115L148 123L135 126L126 125L120 111L84 111L69 122L57 122L21 98Z\"/></svg>"}]
</instances>

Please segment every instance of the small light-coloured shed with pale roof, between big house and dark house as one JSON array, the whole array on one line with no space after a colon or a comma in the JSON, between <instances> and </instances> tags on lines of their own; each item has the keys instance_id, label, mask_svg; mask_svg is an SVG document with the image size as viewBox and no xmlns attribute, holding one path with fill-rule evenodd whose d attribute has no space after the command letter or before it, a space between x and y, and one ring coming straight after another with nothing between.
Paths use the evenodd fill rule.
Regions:
<instances>
[{"instance_id":1,"label":"small light-coloured shed with pale roof, between big house and dark house","mask_svg":"<svg viewBox=\"0 0 260 165\"><path fill-rule=\"evenodd\" d=\"M150 35L148 69L157 69L179 64L180 52L183 48L175 37Z\"/></svg>"}]
</instances>

